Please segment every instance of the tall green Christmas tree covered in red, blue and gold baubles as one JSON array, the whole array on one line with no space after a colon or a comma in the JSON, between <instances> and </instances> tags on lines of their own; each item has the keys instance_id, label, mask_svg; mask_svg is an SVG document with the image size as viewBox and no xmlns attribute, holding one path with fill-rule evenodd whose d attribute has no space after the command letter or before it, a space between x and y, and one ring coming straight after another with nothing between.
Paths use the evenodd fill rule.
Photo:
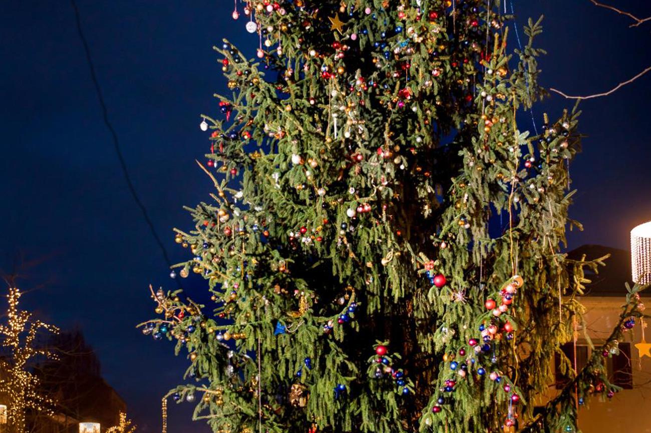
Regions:
<instances>
[{"instance_id":1,"label":"tall green Christmas tree covered in red, blue and gold baubles","mask_svg":"<svg viewBox=\"0 0 651 433\"><path fill-rule=\"evenodd\" d=\"M152 291L164 317L143 324L187 353L169 396L224 433L575 431L616 388L602 350L575 371L559 349L603 257L562 253L579 113L518 118L545 95L540 21L518 46L498 1L242 6L257 59L215 47L214 192L172 272L214 303ZM555 354L571 380L549 400Z\"/></svg>"}]
</instances>

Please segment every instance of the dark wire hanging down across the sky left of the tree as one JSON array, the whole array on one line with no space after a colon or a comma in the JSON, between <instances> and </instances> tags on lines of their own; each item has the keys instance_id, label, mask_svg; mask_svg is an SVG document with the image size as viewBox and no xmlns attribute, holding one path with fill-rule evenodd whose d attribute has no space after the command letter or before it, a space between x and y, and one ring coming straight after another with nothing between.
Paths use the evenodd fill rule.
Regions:
<instances>
[{"instance_id":1,"label":"dark wire hanging down across the sky left of the tree","mask_svg":"<svg viewBox=\"0 0 651 433\"><path fill-rule=\"evenodd\" d=\"M147 209L143 202L140 200L138 193L135 190L135 187L133 186L133 181L131 179L131 176L129 174L129 170L127 169L126 166L126 161L124 161L124 155L122 155L122 150L120 150L120 141L118 140L118 134L115 131L115 128L109 121L109 113L106 108L106 103L104 102L104 96L102 95L102 88L100 87L100 82L98 81L97 74L95 73L95 66L92 61L92 57L90 55L90 47L88 45L88 41L86 40L86 36L83 33L83 30L81 29L81 16L79 15L79 8L77 7L77 2L75 0L70 0L70 4L72 5L72 8L75 11L75 20L77 22L77 33L79 34L79 39L81 40L81 43L83 44L83 49L86 53L86 60L90 69L90 78L92 79L92 83L95 87L95 92L97 94L97 99L100 101L100 106L102 107L102 117L104 118L104 124L106 127L109 129L111 132L111 137L113 138L113 146L115 148L115 153L118 155L118 160L120 161L120 167L122 167L122 174L124 174L124 179L126 180L126 183L129 187L129 190L131 191L131 194L133 196L133 200L135 200L135 203L138 205L140 208L141 212L143 213L143 217L145 217L145 221L147 225L149 226L149 230L152 232L152 235L154 236L154 239L156 240L156 243L158 244L161 252L163 253L163 257L165 258L165 262L169 267L172 266L172 262L169 259L169 256L167 255L167 250L165 249L165 246L163 245L163 242L161 241L160 237L158 236L158 233L156 233L156 229L154 228L154 223L152 222L151 218L149 217L149 214L147 213Z\"/></svg>"}]
</instances>

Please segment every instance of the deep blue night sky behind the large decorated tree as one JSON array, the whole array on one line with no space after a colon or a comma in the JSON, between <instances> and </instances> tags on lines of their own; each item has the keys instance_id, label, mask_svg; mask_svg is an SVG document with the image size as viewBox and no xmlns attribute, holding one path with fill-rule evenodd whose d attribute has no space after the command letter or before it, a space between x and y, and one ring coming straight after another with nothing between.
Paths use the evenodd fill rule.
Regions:
<instances>
[{"instance_id":1,"label":"deep blue night sky behind the large decorated tree","mask_svg":"<svg viewBox=\"0 0 651 433\"><path fill-rule=\"evenodd\" d=\"M644 2L614 3L651 15ZM243 14L230 17L232 0L78 4L133 183L173 263L183 261L189 252L174 244L171 229L191 227L182 205L211 192L195 164L209 147L199 114L216 114L212 94L225 90L212 46L227 37L253 56L256 37L245 31ZM544 86L602 92L651 66L651 23L630 29L630 19L589 0L514 6L520 25L546 16L537 44L548 51L540 61ZM159 431L160 397L182 382L187 361L135 325L154 317L148 285L174 282L120 171L74 11L66 0L2 1L0 41L0 263L8 270L16 252L38 262L20 281L30 291L24 305L63 328L79 324L141 431ZM578 189L571 215L585 231L570 233L571 248L628 248L630 229L651 220L649 101L651 73L582 103L587 138L570 168ZM543 111L555 118L572 105L559 96L538 105L538 126ZM520 128L531 129L522 119ZM190 280L190 295L206 287ZM170 432L208 431L191 424L191 405L184 406L171 405Z\"/></svg>"}]
</instances>

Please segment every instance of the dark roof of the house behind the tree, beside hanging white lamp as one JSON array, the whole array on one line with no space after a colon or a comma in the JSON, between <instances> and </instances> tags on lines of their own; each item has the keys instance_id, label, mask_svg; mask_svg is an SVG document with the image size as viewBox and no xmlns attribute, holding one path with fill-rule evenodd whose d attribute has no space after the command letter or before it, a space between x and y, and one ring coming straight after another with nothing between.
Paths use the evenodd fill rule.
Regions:
<instances>
[{"instance_id":1,"label":"dark roof of the house behind the tree, beside hanging white lamp","mask_svg":"<svg viewBox=\"0 0 651 433\"><path fill-rule=\"evenodd\" d=\"M580 260L585 254L585 259L597 259L610 254L605 261L606 266L599 268L599 273L594 274L586 270L585 277L592 280L586 285L587 296L624 296L626 295L625 283L631 283L631 253L627 250L611 248L603 245L582 245L568 252L568 258Z\"/></svg>"}]
</instances>

